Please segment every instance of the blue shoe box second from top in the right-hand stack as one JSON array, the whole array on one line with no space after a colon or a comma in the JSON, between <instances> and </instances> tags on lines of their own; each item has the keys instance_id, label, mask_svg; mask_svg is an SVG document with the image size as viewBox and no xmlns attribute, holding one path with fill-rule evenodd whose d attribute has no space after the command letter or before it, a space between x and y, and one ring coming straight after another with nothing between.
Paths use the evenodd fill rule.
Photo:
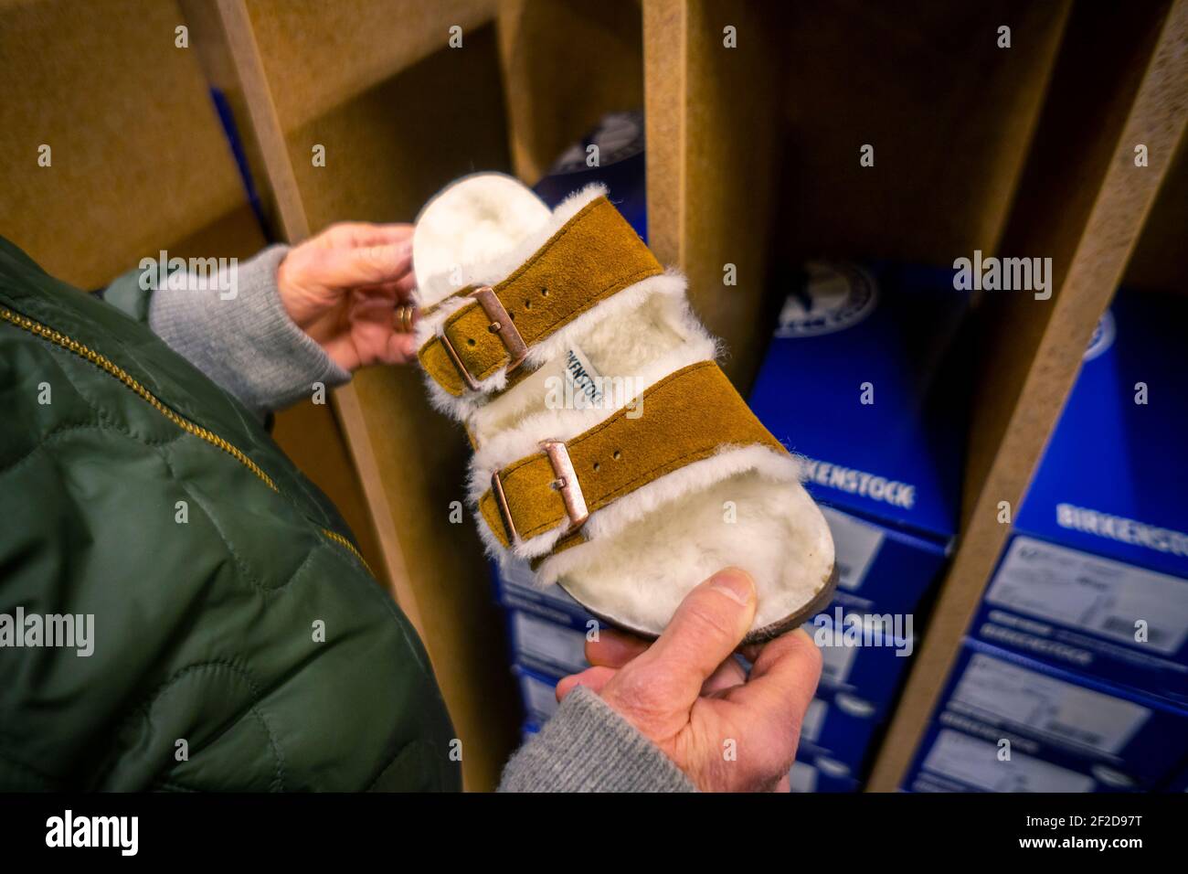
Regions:
<instances>
[{"instance_id":1,"label":"blue shoe box second from top in the right-hand stack","mask_svg":"<svg viewBox=\"0 0 1188 874\"><path fill-rule=\"evenodd\" d=\"M1188 756L1188 711L1034 659L966 640L934 721L1094 775L1154 788Z\"/></svg>"}]
</instances>

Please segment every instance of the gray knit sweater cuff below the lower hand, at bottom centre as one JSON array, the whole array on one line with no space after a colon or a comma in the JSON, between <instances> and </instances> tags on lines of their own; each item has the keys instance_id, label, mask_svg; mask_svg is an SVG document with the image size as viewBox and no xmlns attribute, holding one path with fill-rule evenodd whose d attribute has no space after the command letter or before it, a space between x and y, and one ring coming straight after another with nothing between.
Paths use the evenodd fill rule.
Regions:
<instances>
[{"instance_id":1,"label":"gray knit sweater cuff below the lower hand, at bottom centre","mask_svg":"<svg viewBox=\"0 0 1188 874\"><path fill-rule=\"evenodd\" d=\"M695 792L658 747L579 686L508 760L500 792Z\"/></svg>"}]
</instances>

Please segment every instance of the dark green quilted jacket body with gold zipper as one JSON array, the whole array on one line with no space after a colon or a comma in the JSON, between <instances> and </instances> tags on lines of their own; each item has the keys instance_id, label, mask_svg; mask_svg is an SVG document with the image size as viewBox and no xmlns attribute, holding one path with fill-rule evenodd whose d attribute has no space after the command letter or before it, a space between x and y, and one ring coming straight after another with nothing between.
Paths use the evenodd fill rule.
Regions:
<instances>
[{"instance_id":1,"label":"dark green quilted jacket body with gold zipper","mask_svg":"<svg viewBox=\"0 0 1188 874\"><path fill-rule=\"evenodd\" d=\"M0 790L459 788L334 507L145 310L0 239Z\"/></svg>"}]
</instances>

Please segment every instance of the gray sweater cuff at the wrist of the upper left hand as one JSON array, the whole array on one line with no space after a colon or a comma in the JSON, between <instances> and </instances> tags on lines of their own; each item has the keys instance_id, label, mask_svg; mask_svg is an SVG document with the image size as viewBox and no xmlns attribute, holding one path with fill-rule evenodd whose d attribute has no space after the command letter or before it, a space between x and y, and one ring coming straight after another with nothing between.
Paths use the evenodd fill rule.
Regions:
<instances>
[{"instance_id":1,"label":"gray sweater cuff at the wrist of the upper left hand","mask_svg":"<svg viewBox=\"0 0 1188 874\"><path fill-rule=\"evenodd\" d=\"M260 419L309 397L315 383L350 379L280 302L277 268L287 251L270 246L216 282L175 273L148 302L153 333Z\"/></svg>"}]
</instances>

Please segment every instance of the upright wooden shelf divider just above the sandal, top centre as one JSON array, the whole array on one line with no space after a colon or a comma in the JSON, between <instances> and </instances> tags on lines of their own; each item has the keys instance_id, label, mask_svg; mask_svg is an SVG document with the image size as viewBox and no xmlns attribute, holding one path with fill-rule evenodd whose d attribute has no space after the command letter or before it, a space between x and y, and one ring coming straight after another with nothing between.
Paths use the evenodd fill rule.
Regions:
<instances>
[{"instance_id":1,"label":"upright wooden shelf divider just above the sandal, top centre","mask_svg":"<svg viewBox=\"0 0 1188 874\"><path fill-rule=\"evenodd\" d=\"M781 69L775 6L746 0L645 0L647 235L722 338L722 366L748 385L766 339L781 142L769 102ZM725 29L738 48L723 45ZM776 94L781 92L777 89ZM726 284L734 266L737 284Z\"/></svg>"}]
</instances>

